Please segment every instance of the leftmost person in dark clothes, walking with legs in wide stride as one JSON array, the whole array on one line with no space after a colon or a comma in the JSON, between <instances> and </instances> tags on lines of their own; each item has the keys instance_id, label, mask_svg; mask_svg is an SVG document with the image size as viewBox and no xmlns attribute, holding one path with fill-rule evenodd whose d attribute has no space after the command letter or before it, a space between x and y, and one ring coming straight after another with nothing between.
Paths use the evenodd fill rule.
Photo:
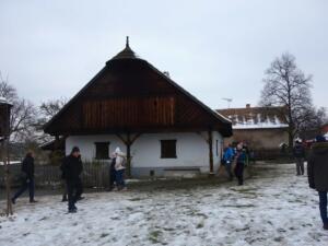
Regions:
<instances>
[{"instance_id":1,"label":"leftmost person in dark clothes, walking with legs in wide stride","mask_svg":"<svg viewBox=\"0 0 328 246\"><path fill-rule=\"evenodd\" d=\"M15 192L11 201L14 204L16 199L26 190L30 191L30 202L34 200L34 153L27 152L22 162L22 187Z\"/></svg>"}]
</instances>

